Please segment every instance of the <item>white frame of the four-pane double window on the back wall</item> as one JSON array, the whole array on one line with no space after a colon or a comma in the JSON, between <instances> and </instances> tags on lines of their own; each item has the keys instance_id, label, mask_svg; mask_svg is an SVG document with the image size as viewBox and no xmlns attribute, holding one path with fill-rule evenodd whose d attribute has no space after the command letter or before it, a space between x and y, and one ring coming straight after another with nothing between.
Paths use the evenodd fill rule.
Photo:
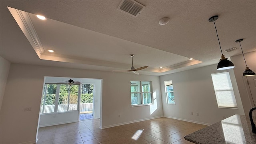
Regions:
<instances>
[{"instance_id":1,"label":"white frame of the four-pane double window on the back wall","mask_svg":"<svg viewBox=\"0 0 256 144\"><path fill-rule=\"evenodd\" d=\"M140 92L131 92L130 94L130 98L131 98L131 106L134 107L134 106L148 106L148 105L152 105L154 104L154 100L153 100L153 93L152 93L152 82L151 81L140 81L140 80L130 80L130 82L132 81L136 81L136 82L140 82ZM149 82L150 83L150 92L142 92L142 82ZM131 89L131 86L130 86L130 89ZM140 101L141 101L141 104L132 104L132 94L140 94ZM151 102L152 103L149 103L149 104L143 104L143 94L146 94L146 93L150 93L150 96L151 96Z\"/></svg>"}]
</instances>

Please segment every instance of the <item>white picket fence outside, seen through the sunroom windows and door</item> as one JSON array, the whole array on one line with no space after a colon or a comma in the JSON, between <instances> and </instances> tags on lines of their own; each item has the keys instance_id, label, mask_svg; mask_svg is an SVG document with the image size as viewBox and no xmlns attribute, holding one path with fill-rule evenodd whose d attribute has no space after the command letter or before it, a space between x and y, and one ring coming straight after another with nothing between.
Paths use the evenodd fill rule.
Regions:
<instances>
[{"instance_id":1,"label":"white picket fence outside, seen through the sunroom windows and door","mask_svg":"<svg viewBox=\"0 0 256 144\"><path fill-rule=\"evenodd\" d=\"M44 106L44 114L54 112L55 105L47 105ZM80 112L92 111L93 104L92 103L82 103L80 104ZM77 110L77 104L58 104L58 112L67 112L71 110ZM41 114L43 112L43 106L41 108Z\"/></svg>"}]
</instances>

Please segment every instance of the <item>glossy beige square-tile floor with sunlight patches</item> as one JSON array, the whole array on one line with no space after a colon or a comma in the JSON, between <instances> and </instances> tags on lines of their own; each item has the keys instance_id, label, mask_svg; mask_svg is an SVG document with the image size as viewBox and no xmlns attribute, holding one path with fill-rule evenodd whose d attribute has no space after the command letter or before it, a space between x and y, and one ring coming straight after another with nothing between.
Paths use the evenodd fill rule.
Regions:
<instances>
[{"instance_id":1,"label":"glossy beige square-tile floor with sunlight patches","mask_svg":"<svg viewBox=\"0 0 256 144\"><path fill-rule=\"evenodd\" d=\"M183 137L205 128L172 118L156 118L100 129L91 119L39 128L37 144L193 144Z\"/></svg>"}]
</instances>

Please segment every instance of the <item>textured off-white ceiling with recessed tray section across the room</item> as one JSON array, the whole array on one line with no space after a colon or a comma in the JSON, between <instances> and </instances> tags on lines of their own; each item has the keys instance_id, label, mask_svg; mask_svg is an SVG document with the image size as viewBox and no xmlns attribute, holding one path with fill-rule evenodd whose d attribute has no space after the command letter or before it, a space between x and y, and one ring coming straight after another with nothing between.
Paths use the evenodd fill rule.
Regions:
<instances>
[{"instance_id":1,"label":"textured off-white ceiling with recessed tray section across the room","mask_svg":"<svg viewBox=\"0 0 256 144\"><path fill-rule=\"evenodd\" d=\"M145 8L136 18L116 9L120 0L0 2L1 56L15 63L128 70L129 55L135 54L134 66L149 66L139 71L149 75L216 64L221 53L214 24L208 22L214 15L222 50L238 48L223 52L226 57L241 54L235 42L240 38L244 52L256 50L256 1L142 0ZM29 13L45 56L37 55L7 6ZM42 22L34 14L48 19ZM163 17L170 22L161 26ZM56 53L47 54L49 48Z\"/></svg>"}]
</instances>

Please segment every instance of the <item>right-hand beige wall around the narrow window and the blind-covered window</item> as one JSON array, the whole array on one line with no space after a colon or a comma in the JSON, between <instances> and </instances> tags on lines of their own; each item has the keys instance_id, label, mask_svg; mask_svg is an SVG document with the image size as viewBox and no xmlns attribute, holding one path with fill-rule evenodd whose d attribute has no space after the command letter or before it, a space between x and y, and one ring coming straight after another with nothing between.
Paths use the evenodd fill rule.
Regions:
<instances>
[{"instance_id":1,"label":"right-hand beige wall around the narrow window and the blind-covered window","mask_svg":"<svg viewBox=\"0 0 256 144\"><path fill-rule=\"evenodd\" d=\"M227 71L227 70L226 70ZM221 72L216 65L160 76L164 116L202 124L213 124L234 114L244 114L233 70L228 70L238 109L218 108L212 73ZM164 81L172 80L175 105L166 104ZM194 115L191 115L191 112ZM196 113L199 113L199 116Z\"/></svg>"}]
</instances>

